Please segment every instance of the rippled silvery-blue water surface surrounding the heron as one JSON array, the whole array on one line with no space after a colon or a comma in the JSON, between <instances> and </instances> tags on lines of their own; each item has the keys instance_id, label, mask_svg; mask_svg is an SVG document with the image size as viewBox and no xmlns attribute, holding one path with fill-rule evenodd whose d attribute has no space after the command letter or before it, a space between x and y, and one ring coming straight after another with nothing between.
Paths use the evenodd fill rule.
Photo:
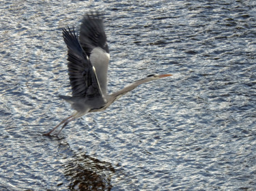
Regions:
<instances>
[{"instance_id":1,"label":"rippled silvery-blue water surface surrounding the heron","mask_svg":"<svg viewBox=\"0 0 256 191\"><path fill-rule=\"evenodd\" d=\"M61 28L105 12L110 92L72 113ZM0 190L256 190L256 1L1 1Z\"/></svg>"}]
</instances>

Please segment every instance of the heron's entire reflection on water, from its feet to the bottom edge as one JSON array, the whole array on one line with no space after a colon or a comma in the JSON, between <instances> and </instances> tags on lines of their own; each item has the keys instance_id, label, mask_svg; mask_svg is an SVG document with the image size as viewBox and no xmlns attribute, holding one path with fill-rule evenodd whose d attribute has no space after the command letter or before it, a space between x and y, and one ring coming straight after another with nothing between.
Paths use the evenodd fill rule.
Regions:
<instances>
[{"instance_id":1,"label":"heron's entire reflection on water, from its feet to the bottom edge","mask_svg":"<svg viewBox=\"0 0 256 191\"><path fill-rule=\"evenodd\" d=\"M52 163L54 160L61 162L59 169L66 177L65 183L60 181L55 184L59 189L83 191L111 190L113 188L111 185L111 177L115 175L113 164L89 156L82 150L74 150L65 137L49 138L47 142L57 148Z\"/></svg>"}]
</instances>

